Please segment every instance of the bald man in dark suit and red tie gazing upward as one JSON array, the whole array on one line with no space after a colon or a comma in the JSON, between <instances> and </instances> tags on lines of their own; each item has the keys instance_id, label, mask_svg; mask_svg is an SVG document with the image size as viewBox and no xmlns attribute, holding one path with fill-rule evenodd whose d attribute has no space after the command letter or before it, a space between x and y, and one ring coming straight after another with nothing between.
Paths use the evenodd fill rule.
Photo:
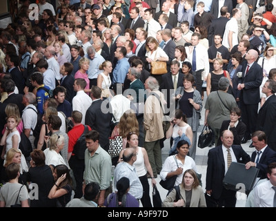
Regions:
<instances>
[{"instance_id":1,"label":"bald man in dark suit and red tie gazing upward","mask_svg":"<svg viewBox=\"0 0 276 221\"><path fill-rule=\"evenodd\" d=\"M259 86L262 84L262 67L257 64L258 52L254 49L246 52L246 63L242 66L242 77L239 78L237 89L241 91L239 104L242 110L242 121L246 124L246 134L242 144L250 140L253 132L256 131L256 120L258 105L260 101ZM250 144L252 146L252 144Z\"/></svg>"}]
</instances>

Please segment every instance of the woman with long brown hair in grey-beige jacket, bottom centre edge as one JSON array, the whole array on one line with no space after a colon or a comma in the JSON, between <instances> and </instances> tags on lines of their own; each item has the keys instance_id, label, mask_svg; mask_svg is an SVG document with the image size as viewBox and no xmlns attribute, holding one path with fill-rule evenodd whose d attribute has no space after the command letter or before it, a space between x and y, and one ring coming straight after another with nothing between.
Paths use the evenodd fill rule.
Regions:
<instances>
[{"instance_id":1,"label":"woman with long brown hair in grey-beige jacket, bottom centre edge","mask_svg":"<svg viewBox=\"0 0 276 221\"><path fill-rule=\"evenodd\" d=\"M163 201L163 207L206 207L204 191L199 186L197 173L193 169L184 172L179 191L173 189Z\"/></svg>"}]
</instances>

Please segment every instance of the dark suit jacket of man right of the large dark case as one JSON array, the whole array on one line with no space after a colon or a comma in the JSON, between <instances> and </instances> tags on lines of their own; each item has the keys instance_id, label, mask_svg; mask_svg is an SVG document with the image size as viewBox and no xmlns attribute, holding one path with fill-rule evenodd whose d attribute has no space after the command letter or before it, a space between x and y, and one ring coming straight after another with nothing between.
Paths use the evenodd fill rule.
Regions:
<instances>
[{"instance_id":1,"label":"dark suit jacket of man right of the large dark case","mask_svg":"<svg viewBox=\"0 0 276 221\"><path fill-rule=\"evenodd\" d=\"M262 150L261 150L262 151ZM251 155L251 161L255 162L255 158L257 156L256 151L254 151ZM276 162L276 152L269 148L269 146L266 146L266 149L262 153L261 158L259 158L259 163L257 163L256 168L259 169L259 173L257 177L260 179L265 179L267 174L267 166L272 163Z\"/></svg>"}]
</instances>

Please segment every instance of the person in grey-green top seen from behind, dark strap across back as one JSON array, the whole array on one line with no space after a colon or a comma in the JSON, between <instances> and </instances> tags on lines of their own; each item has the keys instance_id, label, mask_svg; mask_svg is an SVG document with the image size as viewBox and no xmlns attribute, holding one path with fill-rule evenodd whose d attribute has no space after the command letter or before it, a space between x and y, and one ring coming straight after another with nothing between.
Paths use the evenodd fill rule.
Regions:
<instances>
[{"instance_id":1,"label":"person in grey-green top seen from behind, dark strap across back","mask_svg":"<svg viewBox=\"0 0 276 221\"><path fill-rule=\"evenodd\" d=\"M215 132L215 146L217 146L222 122L229 119L230 110L237 107L233 95L227 93L229 86L228 78L221 77L219 79L219 90L211 92L206 99L204 125L208 124Z\"/></svg>"}]
</instances>

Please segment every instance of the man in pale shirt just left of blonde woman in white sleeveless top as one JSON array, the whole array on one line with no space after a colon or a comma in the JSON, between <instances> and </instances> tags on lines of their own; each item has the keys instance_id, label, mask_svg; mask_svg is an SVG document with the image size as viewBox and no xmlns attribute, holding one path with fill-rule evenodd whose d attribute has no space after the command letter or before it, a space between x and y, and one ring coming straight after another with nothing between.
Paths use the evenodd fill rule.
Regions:
<instances>
[{"instance_id":1,"label":"man in pale shirt just left of blonde woman in white sleeveless top","mask_svg":"<svg viewBox=\"0 0 276 221\"><path fill-rule=\"evenodd\" d=\"M90 60L88 68L88 79L90 81L89 88L91 88L92 85L97 86L99 65L102 64L105 59L96 52L93 46L89 46L87 48L86 55L84 55L84 57L87 57Z\"/></svg>"}]
</instances>

